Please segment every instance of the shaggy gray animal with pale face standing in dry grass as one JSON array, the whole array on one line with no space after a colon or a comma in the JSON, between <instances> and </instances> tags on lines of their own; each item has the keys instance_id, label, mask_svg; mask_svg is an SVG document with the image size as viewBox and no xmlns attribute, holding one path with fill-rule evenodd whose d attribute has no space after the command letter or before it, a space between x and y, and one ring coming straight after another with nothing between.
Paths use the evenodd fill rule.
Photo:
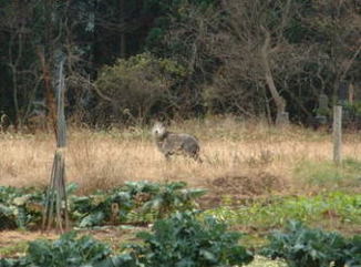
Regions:
<instances>
[{"instance_id":1,"label":"shaggy gray animal with pale face standing in dry grass","mask_svg":"<svg viewBox=\"0 0 361 267\"><path fill-rule=\"evenodd\" d=\"M183 154L200 162L200 147L195 136L186 133L168 132L162 123L155 123L152 134L158 150L166 158L175 154Z\"/></svg>"}]
</instances>

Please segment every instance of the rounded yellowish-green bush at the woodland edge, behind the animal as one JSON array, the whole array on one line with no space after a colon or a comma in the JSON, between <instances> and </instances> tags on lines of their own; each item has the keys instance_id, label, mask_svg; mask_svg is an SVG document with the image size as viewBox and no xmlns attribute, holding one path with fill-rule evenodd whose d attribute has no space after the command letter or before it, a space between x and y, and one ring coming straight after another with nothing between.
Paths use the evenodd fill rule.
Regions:
<instances>
[{"instance_id":1,"label":"rounded yellowish-green bush at the woodland edge, behind the animal","mask_svg":"<svg viewBox=\"0 0 361 267\"><path fill-rule=\"evenodd\" d=\"M148 117L156 103L166 101L171 86L185 74L185 69L176 62L151 53L120 59L100 71L95 82L101 96L97 112L111 113L117 122L134 119L140 122Z\"/></svg>"}]
</instances>

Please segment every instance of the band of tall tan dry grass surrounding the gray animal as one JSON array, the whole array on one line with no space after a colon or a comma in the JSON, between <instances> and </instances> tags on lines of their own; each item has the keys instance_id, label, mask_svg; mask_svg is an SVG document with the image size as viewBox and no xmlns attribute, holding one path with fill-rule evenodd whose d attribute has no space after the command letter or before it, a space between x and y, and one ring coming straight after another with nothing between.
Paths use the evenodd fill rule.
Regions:
<instances>
[{"instance_id":1,"label":"band of tall tan dry grass surrounding the gray animal","mask_svg":"<svg viewBox=\"0 0 361 267\"><path fill-rule=\"evenodd\" d=\"M68 181L79 183L82 193L147 179L185 181L216 194L261 194L299 189L293 170L300 162L332 158L329 133L298 126L277 130L261 122L213 117L174 123L171 130L199 138L203 164L183 157L166 162L146 127L70 129ZM0 134L0 185L45 185L54 148L54 137L49 134ZM345 135L344 156L361 160L360 152L360 137Z\"/></svg>"}]
</instances>

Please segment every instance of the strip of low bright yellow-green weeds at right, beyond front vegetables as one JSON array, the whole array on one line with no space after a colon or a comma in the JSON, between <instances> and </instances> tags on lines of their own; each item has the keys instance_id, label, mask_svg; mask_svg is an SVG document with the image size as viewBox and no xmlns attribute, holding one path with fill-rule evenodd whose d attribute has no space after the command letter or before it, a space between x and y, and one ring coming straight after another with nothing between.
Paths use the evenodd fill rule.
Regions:
<instances>
[{"instance_id":1,"label":"strip of low bright yellow-green weeds at right, beyond front vegetables","mask_svg":"<svg viewBox=\"0 0 361 267\"><path fill-rule=\"evenodd\" d=\"M205 212L233 225L259 229L278 228L286 222L333 225L361 224L361 194L341 192L317 196L274 197L238 207L221 206Z\"/></svg>"}]
</instances>

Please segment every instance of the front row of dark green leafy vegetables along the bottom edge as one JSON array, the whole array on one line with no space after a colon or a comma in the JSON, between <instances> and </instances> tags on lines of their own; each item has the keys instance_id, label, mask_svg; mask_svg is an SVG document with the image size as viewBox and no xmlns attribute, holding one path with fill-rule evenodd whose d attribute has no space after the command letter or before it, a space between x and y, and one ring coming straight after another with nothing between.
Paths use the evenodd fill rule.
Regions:
<instances>
[{"instance_id":1,"label":"front row of dark green leafy vegetables along the bottom edge","mask_svg":"<svg viewBox=\"0 0 361 267\"><path fill-rule=\"evenodd\" d=\"M75 232L58 240L34 240L27 255L0 260L0 267L231 267L248 265L256 254L282 258L290 267L357 267L361 265L361 236L309 228L290 222L283 232L269 235L262 248L239 244L241 234L229 232L215 217L174 213L155 222L151 232L140 232L140 242L124 245L121 254Z\"/></svg>"}]
</instances>

